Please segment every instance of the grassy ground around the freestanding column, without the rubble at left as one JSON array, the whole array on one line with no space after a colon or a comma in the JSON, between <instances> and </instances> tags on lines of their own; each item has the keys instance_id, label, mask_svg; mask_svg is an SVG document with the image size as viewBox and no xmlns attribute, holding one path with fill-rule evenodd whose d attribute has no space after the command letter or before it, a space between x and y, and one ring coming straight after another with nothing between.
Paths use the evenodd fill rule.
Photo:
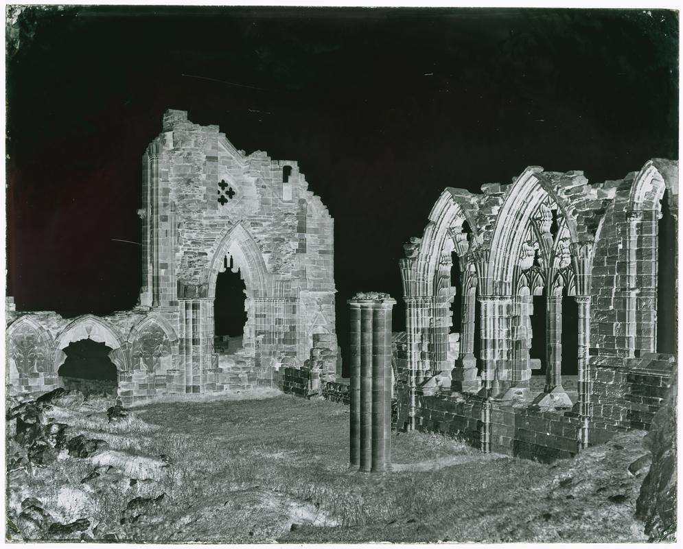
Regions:
<instances>
[{"instance_id":1,"label":"grassy ground around the freestanding column, without the rubble at left","mask_svg":"<svg viewBox=\"0 0 683 549\"><path fill-rule=\"evenodd\" d=\"M270 393L161 402L117 426L103 413L57 412L73 434L105 439L112 450L58 461L50 504L70 501L60 495L67 488L83 492L93 465L112 465L85 495L97 533L122 541L646 540L634 519L642 477L627 472L645 454L639 432L553 465L400 433L397 470L369 475L348 469L349 408L327 401ZM145 516L120 524L135 495L161 493Z\"/></svg>"}]
</instances>

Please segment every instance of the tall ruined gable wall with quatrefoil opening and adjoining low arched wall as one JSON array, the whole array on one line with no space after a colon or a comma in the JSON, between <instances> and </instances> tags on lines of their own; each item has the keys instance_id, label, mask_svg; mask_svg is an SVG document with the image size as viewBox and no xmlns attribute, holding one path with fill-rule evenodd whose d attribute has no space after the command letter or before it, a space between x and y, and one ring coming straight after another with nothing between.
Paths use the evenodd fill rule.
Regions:
<instances>
[{"instance_id":1,"label":"tall ruined gable wall with quatrefoil opening and adjoining low arched wall","mask_svg":"<svg viewBox=\"0 0 683 549\"><path fill-rule=\"evenodd\" d=\"M334 381L333 220L294 161L237 150L218 126L167 110L142 158L138 305L62 318L7 307L8 393L58 386L64 349L104 342L125 405L178 393L283 383L281 366ZM246 288L241 347L214 344L218 274ZM241 307L241 304L240 304ZM315 342L314 342L315 338Z\"/></svg>"}]
</instances>

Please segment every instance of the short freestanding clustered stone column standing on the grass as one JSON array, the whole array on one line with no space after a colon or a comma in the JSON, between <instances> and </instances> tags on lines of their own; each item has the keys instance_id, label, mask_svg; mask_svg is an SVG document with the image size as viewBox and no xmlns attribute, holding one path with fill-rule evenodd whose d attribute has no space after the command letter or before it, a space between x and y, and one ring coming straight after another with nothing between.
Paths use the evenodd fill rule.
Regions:
<instances>
[{"instance_id":1,"label":"short freestanding clustered stone column standing on the grass","mask_svg":"<svg viewBox=\"0 0 683 549\"><path fill-rule=\"evenodd\" d=\"M351 359L351 410L358 415L358 419L356 413L351 417L351 467L358 455L360 471L382 472L391 459L391 309L396 301L387 294L369 292L356 294L348 303L352 352L360 347L360 361Z\"/></svg>"}]
</instances>

